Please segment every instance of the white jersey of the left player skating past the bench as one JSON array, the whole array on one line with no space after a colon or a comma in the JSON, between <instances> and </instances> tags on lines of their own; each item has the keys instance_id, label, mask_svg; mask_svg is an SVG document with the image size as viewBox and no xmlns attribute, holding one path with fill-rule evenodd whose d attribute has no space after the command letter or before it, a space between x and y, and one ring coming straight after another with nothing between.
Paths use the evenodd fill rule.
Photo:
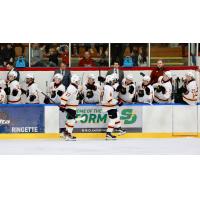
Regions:
<instances>
[{"instance_id":1,"label":"white jersey of the left player skating past the bench","mask_svg":"<svg viewBox=\"0 0 200 200\"><path fill-rule=\"evenodd\" d=\"M76 110L79 105L78 93L78 87L74 84L70 84L61 97L61 105L65 106L66 109L70 108Z\"/></svg>"}]
</instances>

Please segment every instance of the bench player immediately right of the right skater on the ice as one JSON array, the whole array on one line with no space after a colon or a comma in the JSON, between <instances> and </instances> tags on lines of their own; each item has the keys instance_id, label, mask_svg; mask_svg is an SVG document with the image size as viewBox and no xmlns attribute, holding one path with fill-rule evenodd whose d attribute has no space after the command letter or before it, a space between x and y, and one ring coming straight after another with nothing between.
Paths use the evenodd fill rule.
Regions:
<instances>
[{"instance_id":1,"label":"bench player immediately right of the right skater on the ice","mask_svg":"<svg viewBox=\"0 0 200 200\"><path fill-rule=\"evenodd\" d=\"M135 84L133 83L133 76L127 75L122 80L122 85L119 86L119 99L126 103L132 103L135 96Z\"/></svg>"}]
</instances>

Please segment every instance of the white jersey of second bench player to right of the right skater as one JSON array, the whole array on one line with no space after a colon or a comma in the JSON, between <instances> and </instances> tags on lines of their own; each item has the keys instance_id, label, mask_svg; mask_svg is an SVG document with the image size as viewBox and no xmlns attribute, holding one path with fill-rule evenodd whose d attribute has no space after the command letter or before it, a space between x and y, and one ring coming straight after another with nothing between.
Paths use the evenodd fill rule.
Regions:
<instances>
[{"instance_id":1,"label":"white jersey of second bench player to right of the right skater","mask_svg":"<svg viewBox=\"0 0 200 200\"><path fill-rule=\"evenodd\" d=\"M146 92L146 88L149 89L149 94ZM139 92L142 91L144 96L139 96ZM152 85L143 85L143 83L140 83L137 87L137 102L139 103L152 103L154 98L154 89Z\"/></svg>"}]
</instances>

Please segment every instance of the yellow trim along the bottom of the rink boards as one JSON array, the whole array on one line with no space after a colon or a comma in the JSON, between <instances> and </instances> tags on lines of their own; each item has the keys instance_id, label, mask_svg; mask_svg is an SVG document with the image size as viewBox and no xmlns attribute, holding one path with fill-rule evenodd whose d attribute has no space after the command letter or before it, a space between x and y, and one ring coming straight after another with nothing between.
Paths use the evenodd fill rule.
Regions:
<instances>
[{"instance_id":1,"label":"yellow trim along the bottom of the rink boards","mask_svg":"<svg viewBox=\"0 0 200 200\"><path fill-rule=\"evenodd\" d=\"M105 139L103 133L75 133L78 139ZM117 133L114 133L117 136ZM128 138L180 138L180 137L195 137L200 138L200 133L127 133L122 136L118 136L119 139ZM17 133L17 134L0 134L0 139L59 139L61 135L58 133Z\"/></svg>"}]
</instances>

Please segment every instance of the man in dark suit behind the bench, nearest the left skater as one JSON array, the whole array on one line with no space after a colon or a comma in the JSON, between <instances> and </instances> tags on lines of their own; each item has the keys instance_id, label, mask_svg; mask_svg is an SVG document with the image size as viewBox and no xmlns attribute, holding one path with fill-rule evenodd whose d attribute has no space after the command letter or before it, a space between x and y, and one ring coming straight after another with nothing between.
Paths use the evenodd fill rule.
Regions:
<instances>
[{"instance_id":1,"label":"man in dark suit behind the bench, nearest the left skater","mask_svg":"<svg viewBox=\"0 0 200 200\"><path fill-rule=\"evenodd\" d=\"M62 74L63 75L63 79L62 79L62 84L65 86L65 88L67 89L67 87L70 84L70 79L71 79L71 73L69 70L67 70L67 65L64 62L60 63L60 69L56 70L55 74Z\"/></svg>"}]
</instances>

